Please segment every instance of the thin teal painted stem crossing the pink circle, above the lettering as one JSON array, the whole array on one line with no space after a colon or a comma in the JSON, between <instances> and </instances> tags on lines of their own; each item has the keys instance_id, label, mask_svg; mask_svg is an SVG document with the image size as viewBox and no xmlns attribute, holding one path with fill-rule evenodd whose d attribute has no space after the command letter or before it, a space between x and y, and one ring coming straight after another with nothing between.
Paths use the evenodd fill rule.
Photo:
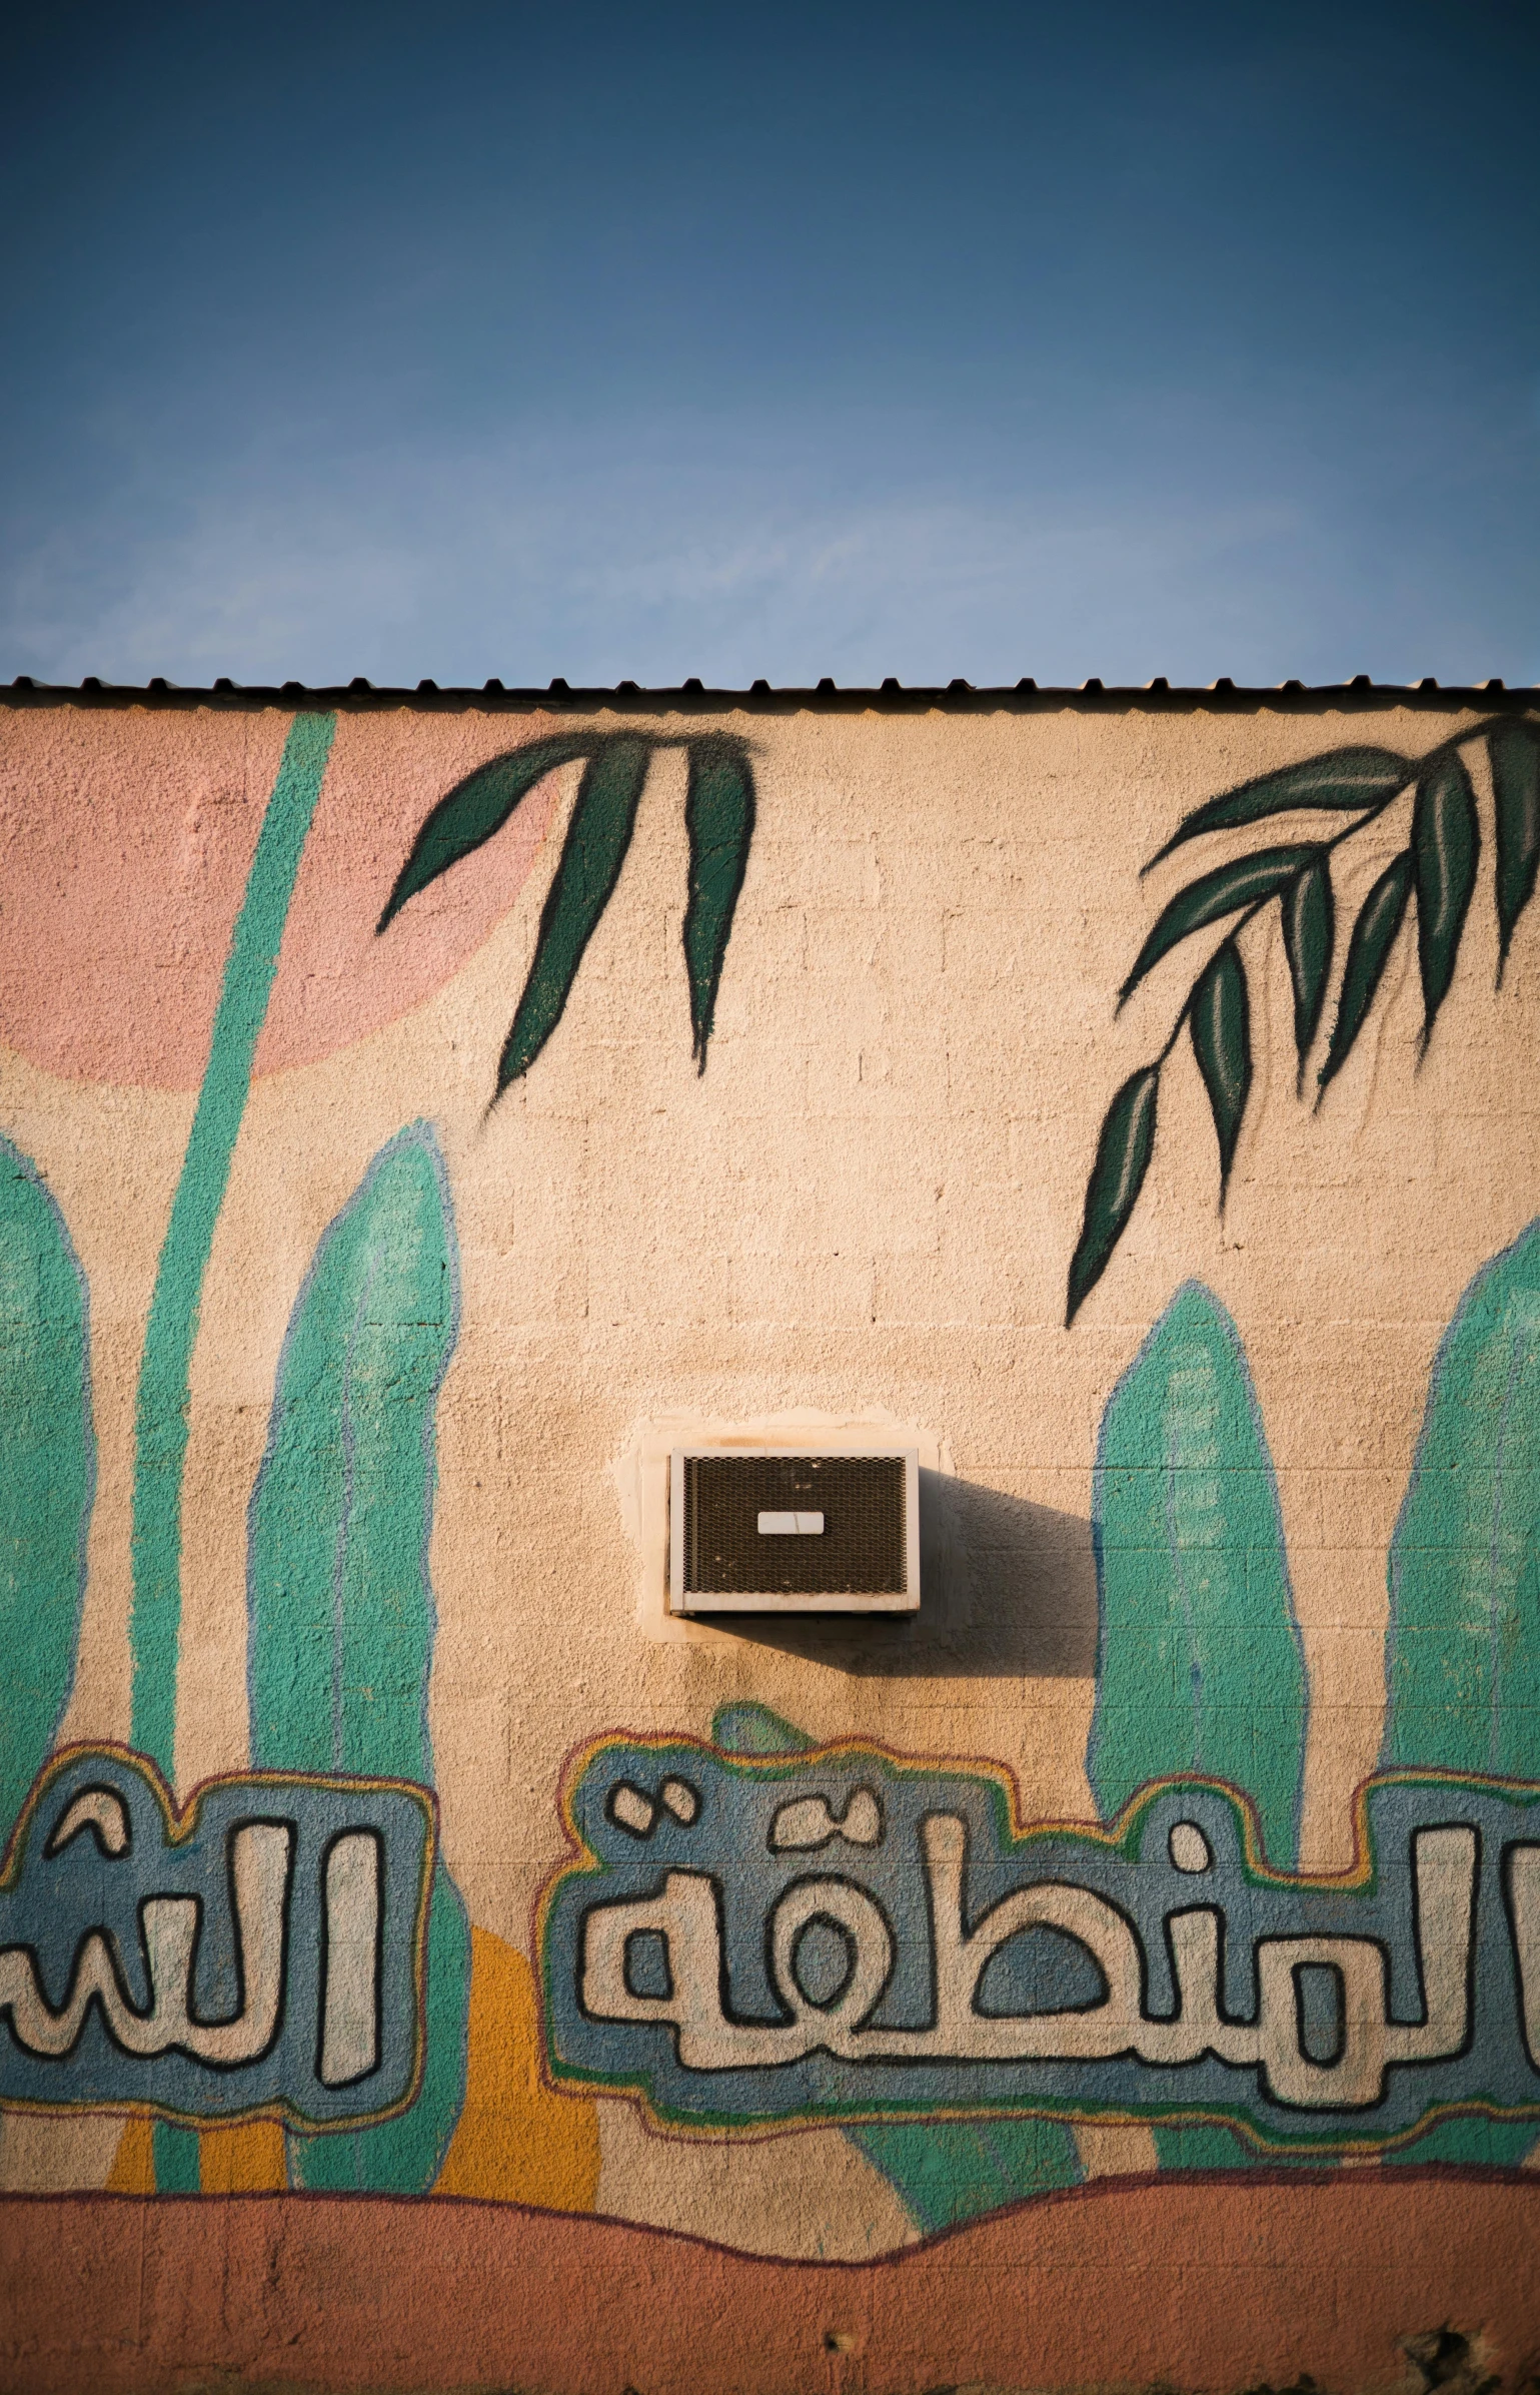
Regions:
<instances>
[{"instance_id":1,"label":"thin teal painted stem crossing the pink circle, above the lettering","mask_svg":"<svg viewBox=\"0 0 1540 2395\"><path fill-rule=\"evenodd\" d=\"M299 855L321 798L338 718L295 716L235 922L208 1068L160 1248L134 1415L132 1744L172 1772L182 1617L182 1468L204 1272L247 1111Z\"/></svg>"}]
</instances>

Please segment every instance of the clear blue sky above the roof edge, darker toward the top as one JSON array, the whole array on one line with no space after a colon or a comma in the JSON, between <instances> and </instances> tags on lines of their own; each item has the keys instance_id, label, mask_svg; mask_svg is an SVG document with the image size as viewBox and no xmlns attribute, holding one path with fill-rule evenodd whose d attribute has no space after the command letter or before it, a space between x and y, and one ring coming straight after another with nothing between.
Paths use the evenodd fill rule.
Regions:
<instances>
[{"instance_id":1,"label":"clear blue sky above the roof edge, darker toward the top","mask_svg":"<svg viewBox=\"0 0 1540 2395\"><path fill-rule=\"evenodd\" d=\"M1540 680L1540 12L72 7L0 675Z\"/></svg>"}]
</instances>

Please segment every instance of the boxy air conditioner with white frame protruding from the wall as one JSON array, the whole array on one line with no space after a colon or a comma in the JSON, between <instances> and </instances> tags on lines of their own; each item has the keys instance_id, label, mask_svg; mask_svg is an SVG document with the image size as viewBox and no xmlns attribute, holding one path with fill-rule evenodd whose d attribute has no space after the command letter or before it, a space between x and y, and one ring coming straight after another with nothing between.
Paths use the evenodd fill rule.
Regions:
<instances>
[{"instance_id":1,"label":"boxy air conditioner with white frame protruding from the wall","mask_svg":"<svg viewBox=\"0 0 1540 2395\"><path fill-rule=\"evenodd\" d=\"M675 1447L671 1614L913 1614L920 1454Z\"/></svg>"}]
</instances>

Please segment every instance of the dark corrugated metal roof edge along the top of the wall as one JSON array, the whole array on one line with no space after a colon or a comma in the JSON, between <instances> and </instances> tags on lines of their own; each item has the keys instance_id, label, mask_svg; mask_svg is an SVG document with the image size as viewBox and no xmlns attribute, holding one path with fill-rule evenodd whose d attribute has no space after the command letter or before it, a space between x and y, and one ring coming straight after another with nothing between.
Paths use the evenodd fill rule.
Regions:
<instances>
[{"instance_id":1,"label":"dark corrugated metal roof edge along the top of the wall","mask_svg":"<svg viewBox=\"0 0 1540 2395\"><path fill-rule=\"evenodd\" d=\"M1451 707L1523 709L1540 704L1540 687L1506 690L1502 680L1459 683L1439 687L1432 675L1420 683L1372 683L1368 673L1356 673L1348 683L1274 683L1236 685L1221 678L1205 687L1171 687L1164 678L1142 685L1104 685L1099 680L1078 685L1044 685L1025 678L999 687L975 690L972 683L953 680L929 687L901 685L896 680L872 687L838 687L833 680L814 683L812 690L771 690L769 683L752 683L747 690L707 690L699 680L675 687L642 690L637 683L613 683L608 687L572 687L563 680L544 690L508 690L491 680L479 687L448 687L417 683L417 687L374 687L362 675L333 687L309 683L230 683L216 680L208 690L177 687L163 678L144 685L103 683L86 675L84 683L38 683L19 673L10 685L0 683L0 704L10 707L345 707L383 709L412 707L438 714L462 714L465 709L496 709L501 714L800 714L805 709L826 714L927 714L946 709L953 714L994 714L999 709L1233 709L1236 714L1257 707L1296 707L1315 711L1322 707L1418 707L1447 714Z\"/></svg>"}]
</instances>

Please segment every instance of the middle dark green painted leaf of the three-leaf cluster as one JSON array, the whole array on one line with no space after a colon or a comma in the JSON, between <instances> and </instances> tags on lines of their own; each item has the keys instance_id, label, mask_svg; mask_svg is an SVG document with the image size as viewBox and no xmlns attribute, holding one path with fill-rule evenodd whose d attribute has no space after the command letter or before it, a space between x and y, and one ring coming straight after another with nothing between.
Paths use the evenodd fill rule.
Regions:
<instances>
[{"instance_id":1,"label":"middle dark green painted leaf of the three-leaf cluster","mask_svg":"<svg viewBox=\"0 0 1540 2395\"><path fill-rule=\"evenodd\" d=\"M498 1097L529 1071L563 1018L582 951L620 879L642 805L651 740L618 733L589 759L546 898L534 963L498 1063Z\"/></svg>"}]
</instances>

